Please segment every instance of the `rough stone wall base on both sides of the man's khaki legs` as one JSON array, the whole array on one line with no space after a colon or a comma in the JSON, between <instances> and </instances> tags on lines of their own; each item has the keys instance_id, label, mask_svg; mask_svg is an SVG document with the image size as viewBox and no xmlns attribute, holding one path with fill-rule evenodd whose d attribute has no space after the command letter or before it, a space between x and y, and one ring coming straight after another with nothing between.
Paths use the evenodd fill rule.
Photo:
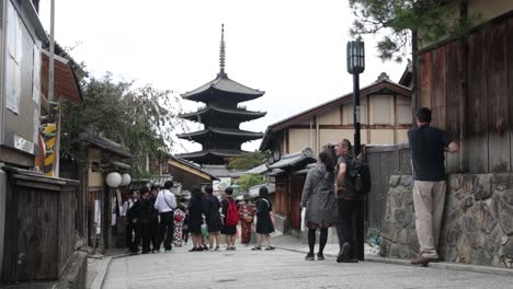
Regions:
<instances>
[{"instance_id":1,"label":"rough stone wall base on both sides of the man's khaki legs","mask_svg":"<svg viewBox=\"0 0 513 289\"><path fill-rule=\"evenodd\" d=\"M513 174L449 175L438 255L446 262L513 268ZM419 252L411 175L394 175L380 255Z\"/></svg>"}]
</instances>

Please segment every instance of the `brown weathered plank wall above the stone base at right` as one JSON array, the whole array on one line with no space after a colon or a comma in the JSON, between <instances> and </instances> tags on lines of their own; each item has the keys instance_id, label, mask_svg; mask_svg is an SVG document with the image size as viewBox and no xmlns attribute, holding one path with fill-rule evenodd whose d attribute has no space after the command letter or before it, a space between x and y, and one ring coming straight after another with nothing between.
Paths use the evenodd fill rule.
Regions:
<instances>
[{"instance_id":1,"label":"brown weathered plank wall above the stone base at right","mask_svg":"<svg viewBox=\"0 0 513 289\"><path fill-rule=\"evenodd\" d=\"M511 172L513 13L421 51L418 71L418 106L431 107L432 124L461 143L447 172Z\"/></svg>"}]
</instances>

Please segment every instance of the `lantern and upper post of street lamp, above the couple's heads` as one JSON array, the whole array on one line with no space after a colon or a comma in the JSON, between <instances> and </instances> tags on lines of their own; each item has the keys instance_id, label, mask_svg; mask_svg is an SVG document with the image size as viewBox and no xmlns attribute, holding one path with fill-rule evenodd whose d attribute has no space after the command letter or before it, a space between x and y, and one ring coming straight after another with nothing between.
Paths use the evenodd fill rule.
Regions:
<instances>
[{"instance_id":1,"label":"lantern and upper post of street lamp, above the couple's heads","mask_svg":"<svg viewBox=\"0 0 513 289\"><path fill-rule=\"evenodd\" d=\"M361 41L347 42L347 72L353 74L354 155L360 154L360 73L365 70L365 45Z\"/></svg>"}]
</instances>

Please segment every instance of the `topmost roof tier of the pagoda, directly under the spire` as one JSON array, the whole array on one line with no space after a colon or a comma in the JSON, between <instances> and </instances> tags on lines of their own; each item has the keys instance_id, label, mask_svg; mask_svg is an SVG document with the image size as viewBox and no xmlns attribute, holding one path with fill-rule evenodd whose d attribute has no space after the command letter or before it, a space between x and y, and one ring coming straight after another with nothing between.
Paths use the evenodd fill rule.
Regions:
<instances>
[{"instance_id":1,"label":"topmost roof tier of the pagoda, directly under the spire","mask_svg":"<svg viewBox=\"0 0 513 289\"><path fill-rule=\"evenodd\" d=\"M228 78L226 73L181 96L189 101L209 103L213 101L247 102L262 96L265 92L250 89Z\"/></svg>"}]
</instances>

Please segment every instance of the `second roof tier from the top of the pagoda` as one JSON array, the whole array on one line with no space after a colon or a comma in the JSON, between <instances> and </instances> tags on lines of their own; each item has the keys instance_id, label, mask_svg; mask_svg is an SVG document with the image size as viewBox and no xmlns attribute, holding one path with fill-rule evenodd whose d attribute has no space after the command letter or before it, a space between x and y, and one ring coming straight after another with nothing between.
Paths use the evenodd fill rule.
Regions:
<instances>
[{"instance_id":1,"label":"second roof tier from the top of the pagoda","mask_svg":"<svg viewBox=\"0 0 513 289\"><path fill-rule=\"evenodd\" d=\"M181 114L180 117L192 122L202 123L202 119L205 118L223 116L223 118L236 119L242 123L260 118L265 114L265 112L251 112L242 108L226 108L218 107L215 105L208 105L204 108L200 108L197 112L194 113Z\"/></svg>"}]
</instances>

